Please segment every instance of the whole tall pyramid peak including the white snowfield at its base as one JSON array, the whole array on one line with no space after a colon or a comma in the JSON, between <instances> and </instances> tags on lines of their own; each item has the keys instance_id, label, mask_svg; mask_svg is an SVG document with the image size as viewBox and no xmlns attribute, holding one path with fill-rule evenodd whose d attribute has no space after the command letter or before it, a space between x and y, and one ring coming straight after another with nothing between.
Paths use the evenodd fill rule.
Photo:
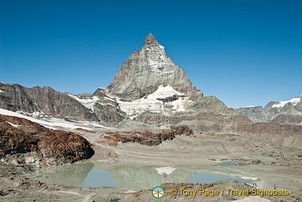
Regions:
<instances>
[{"instance_id":1,"label":"whole tall pyramid peak including the white snowfield at its base","mask_svg":"<svg viewBox=\"0 0 302 202\"><path fill-rule=\"evenodd\" d=\"M143 48L133 52L122 64L113 82L94 94L110 96L119 110L132 120L144 119L146 115L149 119L150 116L235 113L215 96L203 97L152 34L146 37ZM154 120L158 119L154 117Z\"/></svg>"}]
</instances>

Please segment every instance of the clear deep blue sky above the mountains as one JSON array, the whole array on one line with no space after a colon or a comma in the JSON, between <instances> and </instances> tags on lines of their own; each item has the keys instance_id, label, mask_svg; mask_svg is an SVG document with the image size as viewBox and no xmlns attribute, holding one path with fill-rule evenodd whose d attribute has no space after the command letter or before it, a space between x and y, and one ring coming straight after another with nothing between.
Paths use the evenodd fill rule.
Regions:
<instances>
[{"instance_id":1,"label":"clear deep blue sky above the mountains","mask_svg":"<svg viewBox=\"0 0 302 202\"><path fill-rule=\"evenodd\" d=\"M302 94L302 1L292 0L0 0L0 80L94 92L149 32L227 106Z\"/></svg>"}]
</instances>

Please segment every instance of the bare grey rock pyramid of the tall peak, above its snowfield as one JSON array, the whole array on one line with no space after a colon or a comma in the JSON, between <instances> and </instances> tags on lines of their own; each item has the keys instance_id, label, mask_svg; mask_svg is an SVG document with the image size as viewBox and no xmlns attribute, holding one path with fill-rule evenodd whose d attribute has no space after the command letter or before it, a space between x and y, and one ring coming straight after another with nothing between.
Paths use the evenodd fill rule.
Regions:
<instances>
[{"instance_id":1,"label":"bare grey rock pyramid of the tall peak, above its snowfield","mask_svg":"<svg viewBox=\"0 0 302 202\"><path fill-rule=\"evenodd\" d=\"M105 93L134 101L148 96L161 86L171 86L185 95L196 93L185 71L177 66L157 40L148 34L142 50L138 50L122 64ZM200 96L202 96L199 91Z\"/></svg>"}]
</instances>

